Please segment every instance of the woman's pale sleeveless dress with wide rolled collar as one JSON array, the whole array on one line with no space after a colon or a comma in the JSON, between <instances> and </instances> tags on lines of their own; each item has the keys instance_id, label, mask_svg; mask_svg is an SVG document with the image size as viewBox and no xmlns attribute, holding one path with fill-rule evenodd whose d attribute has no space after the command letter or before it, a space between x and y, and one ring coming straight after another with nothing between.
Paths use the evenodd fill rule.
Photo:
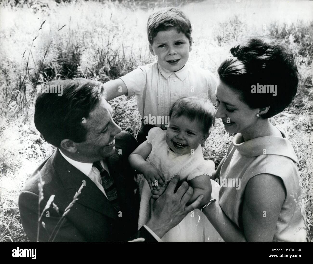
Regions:
<instances>
[{"instance_id":1,"label":"woman's pale sleeveless dress with wide rolled collar","mask_svg":"<svg viewBox=\"0 0 313 264\"><path fill-rule=\"evenodd\" d=\"M243 141L242 135L236 134L217 169L221 185L219 205L243 229L242 203L248 181L262 173L280 177L286 189L286 199L277 220L273 242L305 242L305 212L297 169L298 159L285 138L285 132L279 130L283 137L266 136ZM237 182L240 180L240 188L223 186L234 178Z\"/></svg>"}]
</instances>

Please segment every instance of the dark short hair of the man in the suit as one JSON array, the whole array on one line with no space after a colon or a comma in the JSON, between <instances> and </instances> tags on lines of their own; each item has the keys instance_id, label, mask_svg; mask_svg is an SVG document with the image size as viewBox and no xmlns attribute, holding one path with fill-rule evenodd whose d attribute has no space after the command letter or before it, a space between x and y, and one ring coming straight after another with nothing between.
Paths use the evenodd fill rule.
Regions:
<instances>
[{"instance_id":1,"label":"dark short hair of the man in the suit","mask_svg":"<svg viewBox=\"0 0 313 264\"><path fill-rule=\"evenodd\" d=\"M40 93L35 103L35 126L44 139L60 147L63 139L83 142L87 134L83 120L100 101L101 82L76 78L55 80L47 85L61 85L63 93Z\"/></svg>"}]
</instances>

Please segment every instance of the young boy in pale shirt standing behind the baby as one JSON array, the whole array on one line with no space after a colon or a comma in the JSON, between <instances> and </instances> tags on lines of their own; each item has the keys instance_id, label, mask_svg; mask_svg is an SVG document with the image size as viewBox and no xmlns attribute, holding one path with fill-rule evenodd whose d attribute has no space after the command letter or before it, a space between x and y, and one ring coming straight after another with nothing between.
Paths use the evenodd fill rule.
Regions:
<instances>
[{"instance_id":1,"label":"young boy in pale shirt standing behind the baby","mask_svg":"<svg viewBox=\"0 0 313 264\"><path fill-rule=\"evenodd\" d=\"M119 79L106 82L106 100L123 94L137 96L143 118L138 143L146 140L152 127L168 127L167 113L181 97L215 98L217 79L209 70L188 63L192 50L191 23L176 7L157 11L148 18L149 49L156 62L139 66Z\"/></svg>"}]
</instances>

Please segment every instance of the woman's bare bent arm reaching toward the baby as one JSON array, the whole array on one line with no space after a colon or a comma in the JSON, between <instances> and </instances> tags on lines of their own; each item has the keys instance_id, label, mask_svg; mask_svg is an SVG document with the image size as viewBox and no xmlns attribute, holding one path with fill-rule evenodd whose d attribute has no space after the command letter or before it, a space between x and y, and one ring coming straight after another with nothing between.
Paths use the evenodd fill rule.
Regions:
<instances>
[{"instance_id":1,"label":"woman's bare bent arm reaching toward the baby","mask_svg":"<svg viewBox=\"0 0 313 264\"><path fill-rule=\"evenodd\" d=\"M285 187L279 177L259 174L249 180L243 201L244 230L224 214L218 204L218 194L214 193L212 197L217 201L203 212L225 242L273 241L277 219L286 197Z\"/></svg>"}]
</instances>

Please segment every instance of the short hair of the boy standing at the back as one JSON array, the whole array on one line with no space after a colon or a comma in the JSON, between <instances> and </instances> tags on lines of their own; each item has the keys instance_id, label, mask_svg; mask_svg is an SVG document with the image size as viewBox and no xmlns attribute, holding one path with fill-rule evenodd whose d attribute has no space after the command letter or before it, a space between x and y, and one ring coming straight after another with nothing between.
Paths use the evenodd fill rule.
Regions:
<instances>
[{"instance_id":1,"label":"short hair of the boy standing at the back","mask_svg":"<svg viewBox=\"0 0 313 264\"><path fill-rule=\"evenodd\" d=\"M191 40L191 23L188 17L177 7L171 7L154 12L148 18L148 41L153 43L153 38L159 31L167 31L172 27L178 32L183 32Z\"/></svg>"}]
</instances>

